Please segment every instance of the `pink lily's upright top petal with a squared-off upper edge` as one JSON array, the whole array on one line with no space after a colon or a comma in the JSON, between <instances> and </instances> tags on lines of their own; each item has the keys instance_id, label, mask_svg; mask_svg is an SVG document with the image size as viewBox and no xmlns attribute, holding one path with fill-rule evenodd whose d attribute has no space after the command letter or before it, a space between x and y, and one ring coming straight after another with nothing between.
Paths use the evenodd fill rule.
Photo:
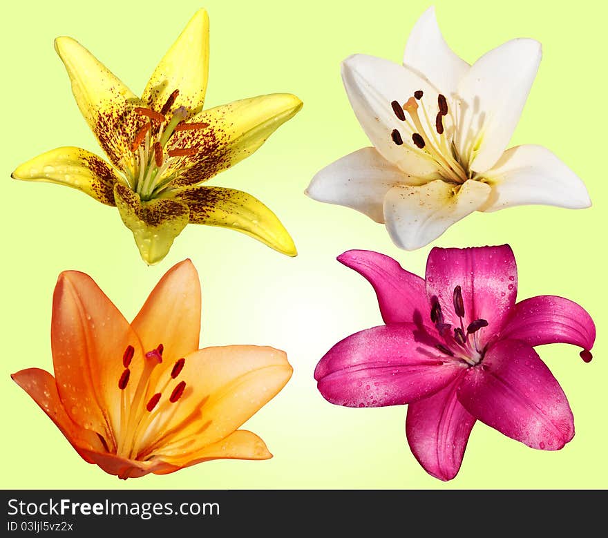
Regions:
<instances>
[{"instance_id":1,"label":"pink lily's upright top petal with a squared-off upper edge","mask_svg":"<svg viewBox=\"0 0 608 538\"><path fill-rule=\"evenodd\" d=\"M439 299L446 323L460 325L454 311L454 289L460 286L464 302L464 327L484 319L488 327L477 332L483 346L500 331L517 296L517 265L508 244L501 247L439 249L426 261L426 293ZM481 349L481 347L480 347Z\"/></svg>"}]
</instances>

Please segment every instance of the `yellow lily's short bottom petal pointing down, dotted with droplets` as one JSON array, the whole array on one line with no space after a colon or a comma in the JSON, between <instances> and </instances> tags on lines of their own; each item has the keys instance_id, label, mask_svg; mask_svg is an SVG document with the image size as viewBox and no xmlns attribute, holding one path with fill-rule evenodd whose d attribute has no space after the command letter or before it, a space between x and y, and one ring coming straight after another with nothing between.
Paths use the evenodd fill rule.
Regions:
<instances>
[{"instance_id":1,"label":"yellow lily's short bottom petal pointing down, dotted with droplets","mask_svg":"<svg viewBox=\"0 0 608 538\"><path fill-rule=\"evenodd\" d=\"M114 187L114 200L148 265L167 256L173 240L188 224L188 206L177 200L142 202L137 193L120 183Z\"/></svg>"}]
</instances>

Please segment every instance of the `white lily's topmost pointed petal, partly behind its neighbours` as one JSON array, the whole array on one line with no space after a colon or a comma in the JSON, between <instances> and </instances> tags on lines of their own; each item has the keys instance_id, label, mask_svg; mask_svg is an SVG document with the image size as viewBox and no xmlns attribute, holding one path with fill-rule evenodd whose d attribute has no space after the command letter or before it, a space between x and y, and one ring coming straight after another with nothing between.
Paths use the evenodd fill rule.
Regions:
<instances>
[{"instance_id":1,"label":"white lily's topmost pointed petal, partly behind its neighbours","mask_svg":"<svg viewBox=\"0 0 608 538\"><path fill-rule=\"evenodd\" d=\"M418 19L403 54L403 65L426 77L439 92L452 96L469 65L448 47L431 6Z\"/></svg>"}]
</instances>

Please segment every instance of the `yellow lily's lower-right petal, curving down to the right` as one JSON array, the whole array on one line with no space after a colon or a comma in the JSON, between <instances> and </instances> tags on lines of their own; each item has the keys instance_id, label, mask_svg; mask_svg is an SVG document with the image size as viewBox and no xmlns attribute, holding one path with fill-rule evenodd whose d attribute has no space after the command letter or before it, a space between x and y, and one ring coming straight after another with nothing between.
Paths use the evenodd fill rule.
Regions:
<instances>
[{"instance_id":1,"label":"yellow lily's lower-right petal, curving down to the right","mask_svg":"<svg viewBox=\"0 0 608 538\"><path fill-rule=\"evenodd\" d=\"M171 193L190 209L190 222L220 226L247 233L287 256L296 256L289 233L260 200L236 189L195 186Z\"/></svg>"}]
</instances>

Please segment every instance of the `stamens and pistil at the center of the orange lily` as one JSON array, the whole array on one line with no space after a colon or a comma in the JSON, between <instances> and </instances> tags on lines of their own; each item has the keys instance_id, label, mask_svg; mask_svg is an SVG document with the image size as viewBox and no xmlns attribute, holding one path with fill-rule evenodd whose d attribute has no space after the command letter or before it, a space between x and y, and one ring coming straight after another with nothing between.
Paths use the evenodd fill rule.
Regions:
<instances>
[{"instance_id":1,"label":"stamens and pistil at the center of the orange lily","mask_svg":"<svg viewBox=\"0 0 608 538\"><path fill-rule=\"evenodd\" d=\"M155 422L155 432L163 432L175 412L173 404L178 403L182 394L184 394L186 383L185 381L179 381L175 383L169 396L163 397L169 385L180 375L180 372L184 368L186 360L180 358L178 361L175 361L167 378L164 381L162 381L162 378L158 380L157 386L153 387L156 390L150 398L146 399L146 394L149 394L152 388L150 386L151 374L155 367L162 363L163 349L163 345L159 344L156 349L146 353L144 369L139 381L137 381L135 393L130 404L126 401L125 389L131 379L131 369L129 369L129 366L131 365L135 349L132 345L129 345L125 349L122 357L124 370L118 380L118 388L120 390L120 430L117 436L116 450L118 456L128 459L140 459L141 454L144 454L144 450L149 444L142 442L144 437L155 441L153 439L155 436L150 436L148 432L151 424Z\"/></svg>"}]
</instances>

